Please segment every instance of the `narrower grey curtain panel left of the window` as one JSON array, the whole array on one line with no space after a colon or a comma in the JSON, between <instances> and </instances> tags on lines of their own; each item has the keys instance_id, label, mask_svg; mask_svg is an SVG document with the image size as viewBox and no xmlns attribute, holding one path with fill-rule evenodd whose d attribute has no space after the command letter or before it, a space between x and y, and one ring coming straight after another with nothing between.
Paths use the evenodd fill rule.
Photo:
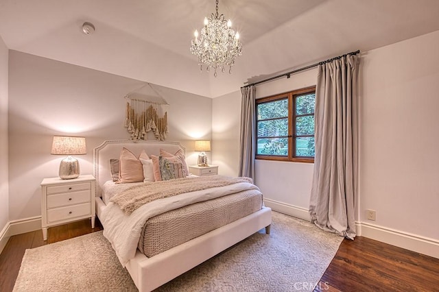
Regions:
<instances>
[{"instance_id":1,"label":"narrower grey curtain panel left of the window","mask_svg":"<svg viewBox=\"0 0 439 292\"><path fill-rule=\"evenodd\" d=\"M256 131L254 98L256 88L241 88L241 132L239 140L239 176L254 180L254 133Z\"/></svg>"}]
</instances>

